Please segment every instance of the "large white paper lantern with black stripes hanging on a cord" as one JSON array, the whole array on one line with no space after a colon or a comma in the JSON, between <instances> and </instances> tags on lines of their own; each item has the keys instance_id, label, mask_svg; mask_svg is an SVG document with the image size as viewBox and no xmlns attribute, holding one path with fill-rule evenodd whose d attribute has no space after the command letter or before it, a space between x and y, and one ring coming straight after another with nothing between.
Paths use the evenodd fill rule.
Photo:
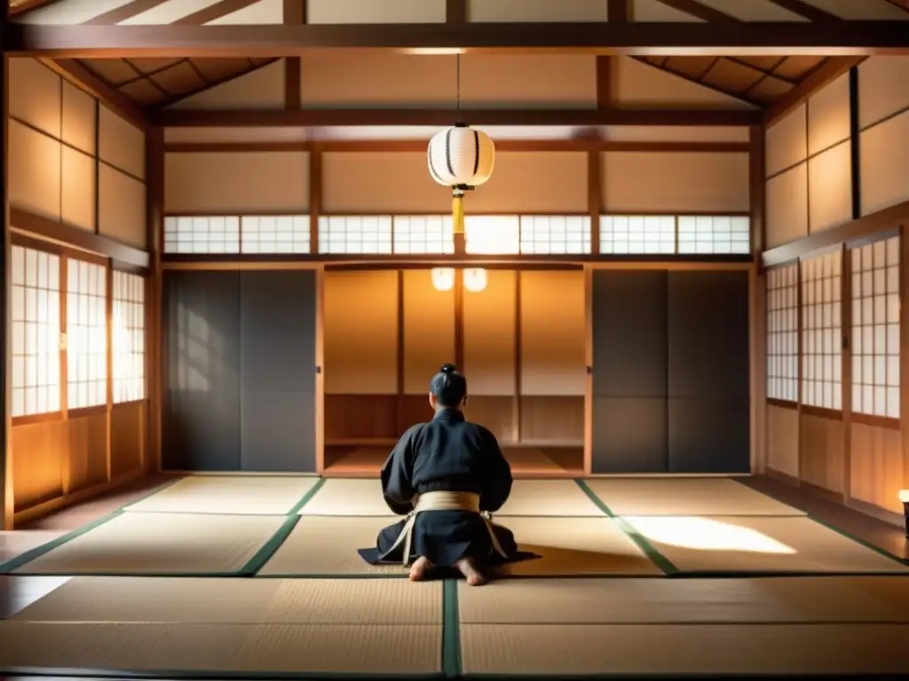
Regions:
<instances>
[{"instance_id":1,"label":"large white paper lantern with black stripes hanging on a cord","mask_svg":"<svg viewBox=\"0 0 909 681\"><path fill-rule=\"evenodd\" d=\"M493 174L495 144L489 135L464 123L443 130L429 141L429 174L446 187L478 187Z\"/></svg>"}]
</instances>

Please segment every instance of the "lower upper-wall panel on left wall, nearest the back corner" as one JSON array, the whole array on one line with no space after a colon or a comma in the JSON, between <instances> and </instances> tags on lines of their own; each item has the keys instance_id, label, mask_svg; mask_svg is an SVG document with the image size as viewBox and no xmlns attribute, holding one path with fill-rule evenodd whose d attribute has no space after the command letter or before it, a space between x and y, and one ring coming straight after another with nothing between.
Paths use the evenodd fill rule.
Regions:
<instances>
[{"instance_id":1,"label":"lower upper-wall panel on left wall, nearest the back corner","mask_svg":"<svg viewBox=\"0 0 909 681\"><path fill-rule=\"evenodd\" d=\"M98 232L136 248L148 247L145 184L106 163L98 167Z\"/></svg>"}]
</instances>

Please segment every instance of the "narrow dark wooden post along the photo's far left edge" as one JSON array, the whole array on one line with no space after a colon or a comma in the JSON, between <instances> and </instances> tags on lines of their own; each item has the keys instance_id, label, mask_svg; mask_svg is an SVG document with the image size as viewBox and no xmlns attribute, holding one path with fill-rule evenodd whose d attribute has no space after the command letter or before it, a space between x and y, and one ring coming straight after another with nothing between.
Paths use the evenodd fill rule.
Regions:
<instances>
[{"instance_id":1,"label":"narrow dark wooden post along the photo's far left edge","mask_svg":"<svg viewBox=\"0 0 909 681\"><path fill-rule=\"evenodd\" d=\"M0 10L0 33L3 33L6 26L6 19L9 13L9 4L4 3L3 9ZM10 384L7 368L10 366L10 346L9 346L9 307L6 301L9 300L10 272L8 264L10 262L10 244L9 244L9 202L6 196L6 178L9 175L9 154L6 145L6 128L9 120L9 58L6 56L2 42L0 42L0 102L3 104L3 136L0 137L0 153L3 154L3 163L0 165L0 203L3 204L3 254L0 256L0 271L4 272L3 292L0 293L0 303L3 308L3 333L0 334L0 347L3 349L3 369L0 370L0 376L3 377L3 458L0 460L0 475L3 476L0 484L0 529L13 528L13 457L12 457L12 418L10 416Z\"/></svg>"}]
</instances>

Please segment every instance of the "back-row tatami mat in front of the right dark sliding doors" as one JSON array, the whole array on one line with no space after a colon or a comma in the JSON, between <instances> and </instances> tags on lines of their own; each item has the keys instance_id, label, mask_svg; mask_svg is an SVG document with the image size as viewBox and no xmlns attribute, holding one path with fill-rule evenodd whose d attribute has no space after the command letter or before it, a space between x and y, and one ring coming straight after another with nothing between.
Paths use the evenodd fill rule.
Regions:
<instances>
[{"instance_id":1,"label":"back-row tatami mat in front of the right dark sliding doors","mask_svg":"<svg viewBox=\"0 0 909 681\"><path fill-rule=\"evenodd\" d=\"M617 516L804 516L728 478L595 478L586 486Z\"/></svg>"}]
</instances>

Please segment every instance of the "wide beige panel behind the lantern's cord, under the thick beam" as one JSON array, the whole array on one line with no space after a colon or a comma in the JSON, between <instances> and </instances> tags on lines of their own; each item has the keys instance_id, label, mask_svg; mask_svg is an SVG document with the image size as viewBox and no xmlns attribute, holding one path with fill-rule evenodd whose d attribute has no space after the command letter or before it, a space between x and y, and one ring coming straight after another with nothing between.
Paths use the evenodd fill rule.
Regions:
<instances>
[{"instance_id":1,"label":"wide beige panel behind the lantern's cord, under the thick beam","mask_svg":"<svg viewBox=\"0 0 909 681\"><path fill-rule=\"evenodd\" d=\"M365 58L315 50L303 56L300 77L303 105L311 107L449 107L456 94L453 55L369 51ZM464 54L461 102L465 109L594 108L596 60L586 54Z\"/></svg>"}]
</instances>

